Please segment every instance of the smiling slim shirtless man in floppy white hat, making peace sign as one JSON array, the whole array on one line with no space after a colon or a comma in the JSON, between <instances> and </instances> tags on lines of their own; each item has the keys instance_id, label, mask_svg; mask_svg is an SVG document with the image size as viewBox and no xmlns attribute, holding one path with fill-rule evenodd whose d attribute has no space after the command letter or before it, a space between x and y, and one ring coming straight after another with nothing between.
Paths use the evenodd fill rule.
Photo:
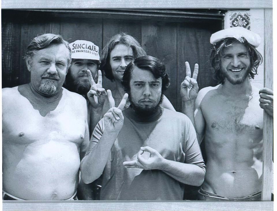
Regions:
<instances>
[{"instance_id":1,"label":"smiling slim shirtless man in floppy white hat, making peace sign","mask_svg":"<svg viewBox=\"0 0 277 211\"><path fill-rule=\"evenodd\" d=\"M256 49L260 41L258 34L243 27L212 34L210 62L219 85L199 93L198 65L191 78L186 62L183 113L194 123L199 144L203 138L205 142L202 200L261 200L263 109L273 115L273 92L259 90L249 80L262 63Z\"/></svg>"}]
</instances>

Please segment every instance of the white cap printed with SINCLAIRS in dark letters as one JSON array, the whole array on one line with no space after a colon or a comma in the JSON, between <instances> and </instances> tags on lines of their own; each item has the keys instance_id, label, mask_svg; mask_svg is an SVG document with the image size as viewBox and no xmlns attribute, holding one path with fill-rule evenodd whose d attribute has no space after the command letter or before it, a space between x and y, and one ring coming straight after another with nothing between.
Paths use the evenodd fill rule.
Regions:
<instances>
[{"instance_id":1,"label":"white cap printed with SINCLAIRS in dark letters","mask_svg":"<svg viewBox=\"0 0 277 211\"><path fill-rule=\"evenodd\" d=\"M76 40L69 44L72 59L100 60L99 47L87 40Z\"/></svg>"}]
</instances>

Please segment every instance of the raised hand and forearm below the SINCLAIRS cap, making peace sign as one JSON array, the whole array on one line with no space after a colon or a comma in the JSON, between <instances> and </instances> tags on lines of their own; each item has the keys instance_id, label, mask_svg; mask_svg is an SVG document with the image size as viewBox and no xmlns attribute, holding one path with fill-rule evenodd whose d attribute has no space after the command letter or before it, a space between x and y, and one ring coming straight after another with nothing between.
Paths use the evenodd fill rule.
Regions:
<instances>
[{"instance_id":1,"label":"raised hand and forearm below the SINCLAIRS cap, making peace sign","mask_svg":"<svg viewBox=\"0 0 277 211\"><path fill-rule=\"evenodd\" d=\"M89 123L89 132L90 136L93 132L93 129L101 119L103 105L107 97L106 90L102 87L102 72L98 70L98 81L97 84L94 82L91 72L87 70L87 75L89 77L89 83L91 88L87 93L87 98L89 100L88 109L90 110L90 123Z\"/></svg>"}]
</instances>

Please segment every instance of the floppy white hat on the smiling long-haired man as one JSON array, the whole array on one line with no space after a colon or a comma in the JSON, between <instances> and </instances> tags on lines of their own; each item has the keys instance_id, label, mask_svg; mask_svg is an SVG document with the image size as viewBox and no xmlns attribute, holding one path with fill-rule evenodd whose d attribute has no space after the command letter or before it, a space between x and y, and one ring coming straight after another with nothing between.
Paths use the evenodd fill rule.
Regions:
<instances>
[{"instance_id":1,"label":"floppy white hat on the smiling long-haired man","mask_svg":"<svg viewBox=\"0 0 277 211\"><path fill-rule=\"evenodd\" d=\"M239 42L244 42L244 39L246 39L251 45L256 48L261 43L261 37L259 36L259 34L251 32L250 30L240 26L223 29L212 34L210 42L212 44L216 44L218 41L228 37L236 38L237 40L239 40Z\"/></svg>"}]
</instances>

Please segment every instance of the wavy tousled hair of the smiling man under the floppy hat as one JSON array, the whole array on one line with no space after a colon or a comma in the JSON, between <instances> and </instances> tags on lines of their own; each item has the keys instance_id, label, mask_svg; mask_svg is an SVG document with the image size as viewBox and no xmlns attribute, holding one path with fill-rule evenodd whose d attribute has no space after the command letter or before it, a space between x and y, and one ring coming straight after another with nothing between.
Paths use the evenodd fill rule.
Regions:
<instances>
[{"instance_id":1,"label":"wavy tousled hair of the smiling man under the floppy hat","mask_svg":"<svg viewBox=\"0 0 277 211\"><path fill-rule=\"evenodd\" d=\"M229 47L236 42L239 42L236 38L225 38L217 42L211 50L210 63L215 71L214 78L218 81L219 84L223 84L225 79L220 70L223 50L224 48ZM245 45L250 56L251 71L249 72L248 77L254 79L254 75L258 75L257 69L258 66L263 62L263 57L253 45L247 42L247 40L244 40L242 44Z\"/></svg>"}]
</instances>

